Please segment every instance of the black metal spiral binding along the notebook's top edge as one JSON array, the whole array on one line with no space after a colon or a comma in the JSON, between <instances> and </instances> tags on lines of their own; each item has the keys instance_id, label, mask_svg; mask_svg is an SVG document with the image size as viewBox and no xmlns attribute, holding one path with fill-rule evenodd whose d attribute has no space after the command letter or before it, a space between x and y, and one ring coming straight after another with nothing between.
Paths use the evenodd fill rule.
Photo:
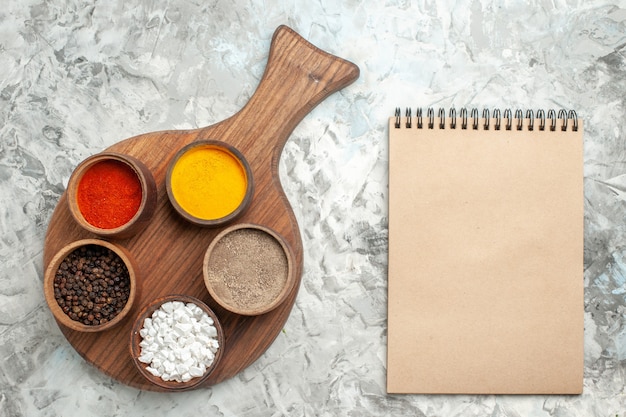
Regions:
<instances>
[{"instance_id":1,"label":"black metal spiral binding along the notebook's top edge","mask_svg":"<svg viewBox=\"0 0 626 417\"><path fill-rule=\"evenodd\" d=\"M437 118L439 119L439 123L437 124L439 129L446 129L446 126L449 126L450 129L456 129L458 126L461 129L471 128L472 130L480 130L481 126L479 126L480 119L477 108L472 108L469 111L465 107L462 107L459 110L459 115L457 118L456 108L451 107L448 111L448 118L450 119L449 125L446 125L446 111L443 107L437 109ZM490 115L493 116L490 116ZM395 110L395 123L394 126L396 129L400 129L402 127L402 110L400 107L397 107ZM414 123L413 119L416 119ZM434 129L435 128L435 109L432 107L428 107L426 109L426 128ZM460 119L460 124L457 124L457 120ZM471 122L470 122L471 119ZM504 124L502 123L502 119L505 120ZM547 119L550 120L549 125L547 124ZM418 107L415 111L415 117L412 116L411 108L406 108L404 113L405 120L405 128L411 129L415 124L417 129L424 128L424 120L423 120L423 110ZM578 115L574 110L570 110L569 112L561 109L558 113L549 109L546 113L545 110L539 109L536 112L533 110L526 110L524 113L521 109L516 109L515 113L511 111L511 109L505 109L503 112L500 109L494 109L491 113L489 109L485 108L482 111L482 130L490 130L492 127L494 130L500 130L504 127L505 130L513 130L513 124L515 121L515 130L524 130L524 126L526 126L527 130L535 130L535 127L538 128L539 131L544 131L549 129L554 132L557 130L558 121L561 121L560 130L565 132L568 130L571 121L571 130L574 132L578 131ZM494 120L493 125L491 121ZM539 120L538 126L535 126L535 121ZM526 122L526 123L525 123Z\"/></svg>"}]
</instances>

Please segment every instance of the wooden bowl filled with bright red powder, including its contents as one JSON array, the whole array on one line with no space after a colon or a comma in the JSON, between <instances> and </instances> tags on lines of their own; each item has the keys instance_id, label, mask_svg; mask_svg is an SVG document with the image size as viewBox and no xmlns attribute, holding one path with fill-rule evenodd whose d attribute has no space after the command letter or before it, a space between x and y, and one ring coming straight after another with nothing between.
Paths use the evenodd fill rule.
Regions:
<instances>
[{"instance_id":1,"label":"wooden bowl filled with bright red powder, including its contents","mask_svg":"<svg viewBox=\"0 0 626 417\"><path fill-rule=\"evenodd\" d=\"M150 170L136 158L113 152L85 159L67 186L74 220L96 235L111 238L130 237L147 226L156 195Z\"/></svg>"}]
</instances>

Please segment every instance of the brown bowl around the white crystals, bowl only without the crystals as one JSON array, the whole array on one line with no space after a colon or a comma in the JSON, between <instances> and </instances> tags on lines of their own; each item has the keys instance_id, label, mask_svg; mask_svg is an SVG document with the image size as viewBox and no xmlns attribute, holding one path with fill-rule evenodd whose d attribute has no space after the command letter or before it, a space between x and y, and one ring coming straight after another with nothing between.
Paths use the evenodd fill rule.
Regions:
<instances>
[{"instance_id":1,"label":"brown bowl around the white crystals, bowl only without the crystals","mask_svg":"<svg viewBox=\"0 0 626 417\"><path fill-rule=\"evenodd\" d=\"M209 366L206 369L206 372L204 373L204 375L202 375L201 377L192 378L187 382L165 381L161 377L151 374L148 370L146 370L146 367L148 365L139 361L139 356L141 356L141 346L139 346L139 344L143 340L143 338L139 334L139 331L143 328L145 319L148 317L151 317L152 314L161 307L161 305L163 305L164 303L168 301L182 301L185 304L187 303L196 304L205 313L207 313L209 317L213 319L213 325L215 326L215 329L217 330L217 342L219 343L219 348L217 349L217 352L215 353L215 359L213 360L213 363L211 364L211 366ZM154 385L157 385L167 391L184 391L184 390L188 390L188 389L191 389L200 385L202 382L204 382L208 378L208 376L211 374L211 372L213 372L213 370L219 363L222 357L223 350L224 350L224 331L222 330L222 326L217 316L215 315L213 310L209 308L209 306L207 306L205 303L203 303L199 299L189 296L189 295L182 295L182 294L168 295L168 296L161 297L161 298L154 300L153 302L151 302L150 304L148 304L141 310L141 312L135 319L135 322L133 324L133 327L130 333L130 355L133 358L133 362L135 366L137 367L137 370L148 381L150 381Z\"/></svg>"}]
</instances>

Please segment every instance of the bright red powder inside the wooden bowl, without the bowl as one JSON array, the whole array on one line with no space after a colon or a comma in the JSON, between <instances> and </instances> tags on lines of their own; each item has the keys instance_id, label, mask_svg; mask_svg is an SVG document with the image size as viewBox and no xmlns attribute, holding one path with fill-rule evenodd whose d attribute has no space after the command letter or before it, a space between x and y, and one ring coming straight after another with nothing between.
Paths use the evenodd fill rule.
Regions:
<instances>
[{"instance_id":1,"label":"bright red powder inside the wooden bowl, without the bowl","mask_svg":"<svg viewBox=\"0 0 626 417\"><path fill-rule=\"evenodd\" d=\"M141 183L131 167L116 160L90 167L78 183L78 208L87 222L101 229L120 227L141 204Z\"/></svg>"}]
</instances>

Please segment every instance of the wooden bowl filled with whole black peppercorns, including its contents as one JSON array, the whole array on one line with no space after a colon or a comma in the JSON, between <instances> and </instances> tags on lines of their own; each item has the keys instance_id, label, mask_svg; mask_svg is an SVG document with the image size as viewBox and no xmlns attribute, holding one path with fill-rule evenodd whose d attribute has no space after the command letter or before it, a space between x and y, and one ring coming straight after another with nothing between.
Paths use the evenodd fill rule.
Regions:
<instances>
[{"instance_id":1,"label":"wooden bowl filled with whole black peppercorns, including its contents","mask_svg":"<svg viewBox=\"0 0 626 417\"><path fill-rule=\"evenodd\" d=\"M122 247L99 239L72 242L55 254L44 275L44 295L57 322L99 332L122 322L137 294L135 267Z\"/></svg>"}]
</instances>

